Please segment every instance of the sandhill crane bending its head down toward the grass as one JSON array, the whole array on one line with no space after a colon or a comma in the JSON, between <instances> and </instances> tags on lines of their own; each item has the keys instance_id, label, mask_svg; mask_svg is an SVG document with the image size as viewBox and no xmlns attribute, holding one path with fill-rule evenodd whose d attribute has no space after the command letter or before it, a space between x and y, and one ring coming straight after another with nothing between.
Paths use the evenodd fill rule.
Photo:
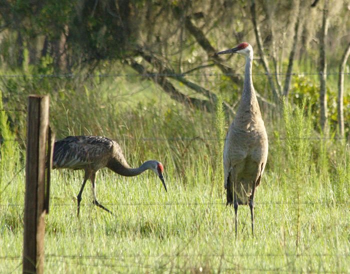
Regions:
<instances>
[{"instance_id":1,"label":"sandhill crane bending its head down toward the grass","mask_svg":"<svg viewBox=\"0 0 350 274\"><path fill-rule=\"evenodd\" d=\"M150 169L160 178L166 191L162 175L163 166L158 161L150 160L138 168L130 168L120 146L115 141L100 136L69 136L54 143L53 169L68 168L85 171L84 181L76 197L77 217L79 217L81 194L88 179L92 183L93 204L111 213L97 202L95 194L96 173L104 167L121 176L136 176Z\"/></svg>"}]
</instances>

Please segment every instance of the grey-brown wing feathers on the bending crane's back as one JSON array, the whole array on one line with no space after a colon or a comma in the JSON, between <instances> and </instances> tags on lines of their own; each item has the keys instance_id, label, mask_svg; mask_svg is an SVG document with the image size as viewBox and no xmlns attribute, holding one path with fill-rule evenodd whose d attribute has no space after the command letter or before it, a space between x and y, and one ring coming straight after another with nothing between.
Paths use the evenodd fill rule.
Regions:
<instances>
[{"instance_id":1,"label":"grey-brown wing feathers on the bending crane's back","mask_svg":"<svg viewBox=\"0 0 350 274\"><path fill-rule=\"evenodd\" d=\"M103 163L116 143L100 136L69 136L54 143L53 168L82 169Z\"/></svg>"}]
</instances>

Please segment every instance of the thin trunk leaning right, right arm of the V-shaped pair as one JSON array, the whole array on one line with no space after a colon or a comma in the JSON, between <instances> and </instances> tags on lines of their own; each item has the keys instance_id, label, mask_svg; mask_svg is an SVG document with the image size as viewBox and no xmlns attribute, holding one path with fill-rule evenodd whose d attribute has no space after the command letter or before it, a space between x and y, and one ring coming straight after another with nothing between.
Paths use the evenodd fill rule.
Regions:
<instances>
[{"instance_id":1,"label":"thin trunk leaning right, right arm of the V-shaped pair","mask_svg":"<svg viewBox=\"0 0 350 274\"><path fill-rule=\"evenodd\" d=\"M293 37L293 45L289 53L289 61L287 68L287 75L285 76L284 88L283 88L283 96L284 99L288 100L290 82L291 82L291 73L293 70L293 62L295 57L296 46L298 44L299 39L299 25L301 20L301 1L299 1L298 14L296 17L295 25L294 25L294 37Z\"/></svg>"}]
</instances>

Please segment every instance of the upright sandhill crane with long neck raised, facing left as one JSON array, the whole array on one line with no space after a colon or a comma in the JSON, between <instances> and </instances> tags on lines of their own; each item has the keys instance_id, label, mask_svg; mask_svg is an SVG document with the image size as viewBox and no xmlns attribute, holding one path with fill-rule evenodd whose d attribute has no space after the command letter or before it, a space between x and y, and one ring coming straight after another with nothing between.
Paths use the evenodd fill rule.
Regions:
<instances>
[{"instance_id":1,"label":"upright sandhill crane with long neck raised, facing left","mask_svg":"<svg viewBox=\"0 0 350 274\"><path fill-rule=\"evenodd\" d=\"M251 79L253 48L248 43L241 43L237 47L215 54L226 53L245 56L243 92L223 148L226 206L232 205L233 202L237 236L238 205L249 205L251 233L254 236L254 193L266 165L267 134Z\"/></svg>"}]
</instances>

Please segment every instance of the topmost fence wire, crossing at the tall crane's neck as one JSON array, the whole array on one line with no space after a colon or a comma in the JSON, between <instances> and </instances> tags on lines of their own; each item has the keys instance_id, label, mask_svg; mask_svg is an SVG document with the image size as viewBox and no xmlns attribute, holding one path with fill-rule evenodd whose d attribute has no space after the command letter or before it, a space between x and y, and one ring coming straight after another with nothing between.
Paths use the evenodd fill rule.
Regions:
<instances>
[{"instance_id":1,"label":"topmost fence wire, crossing at the tall crane's neck","mask_svg":"<svg viewBox=\"0 0 350 274\"><path fill-rule=\"evenodd\" d=\"M252 73L252 76L270 75L350 75L350 72L293 72L293 73ZM0 78L76 78L76 77L183 77L183 76L244 76L244 73L111 73L111 74L0 74Z\"/></svg>"}]
</instances>

